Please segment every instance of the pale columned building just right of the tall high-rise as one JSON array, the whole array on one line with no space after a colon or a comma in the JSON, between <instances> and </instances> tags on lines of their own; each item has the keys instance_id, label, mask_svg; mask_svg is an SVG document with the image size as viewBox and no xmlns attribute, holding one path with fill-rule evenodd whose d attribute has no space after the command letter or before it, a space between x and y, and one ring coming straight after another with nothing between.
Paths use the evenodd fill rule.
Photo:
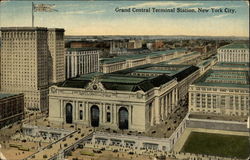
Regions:
<instances>
[{"instance_id":1,"label":"pale columned building just right of the tall high-rise","mask_svg":"<svg viewBox=\"0 0 250 160\"><path fill-rule=\"evenodd\" d=\"M66 78L99 71L98 49L69 48L66 50Z\"/></svg>"}]
</instances>

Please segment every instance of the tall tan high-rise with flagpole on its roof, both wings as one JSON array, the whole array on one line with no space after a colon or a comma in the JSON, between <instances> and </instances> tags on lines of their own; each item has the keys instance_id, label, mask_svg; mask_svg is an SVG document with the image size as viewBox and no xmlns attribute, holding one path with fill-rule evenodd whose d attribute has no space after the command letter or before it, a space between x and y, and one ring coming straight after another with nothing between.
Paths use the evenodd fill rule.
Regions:
<instances>
[{"instance_id":1,"label":"tall tan high-rise with flagpole on its roof, both wings","mask_svg":"<svg viewBox=\"0 0 250 160\"><path fill-rule=\"evenodd\" d=\"M26 109L47 110L49 82L64 80L63 31L1 28L1 91L24 93Z\"/></svg>"}]
</instances>

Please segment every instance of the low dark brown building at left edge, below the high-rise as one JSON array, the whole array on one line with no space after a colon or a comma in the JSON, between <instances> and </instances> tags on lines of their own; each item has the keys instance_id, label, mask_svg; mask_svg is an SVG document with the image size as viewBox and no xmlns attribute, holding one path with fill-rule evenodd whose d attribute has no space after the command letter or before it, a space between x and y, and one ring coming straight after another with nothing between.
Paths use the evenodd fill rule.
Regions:
<instances>
[{"instance_id":1,"label":"low dark brown building at left edge, below the high-rise","mask_svg":"<svg viewBox=\"0 0 250 160\"><path fill-rule=\"evenodd\" d=\"M0 128L24 118L24 95L0 93Z\"/></svg>"}]
</instances>

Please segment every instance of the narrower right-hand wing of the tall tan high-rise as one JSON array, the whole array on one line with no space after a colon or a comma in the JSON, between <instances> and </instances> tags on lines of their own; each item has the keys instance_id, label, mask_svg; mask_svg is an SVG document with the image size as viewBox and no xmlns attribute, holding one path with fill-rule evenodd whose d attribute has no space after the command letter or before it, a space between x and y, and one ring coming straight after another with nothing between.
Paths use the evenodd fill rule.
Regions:
<instances>
[{"instance_id":1,"label":"narrower right-hand wing of the tall tan high-rise","mask_svg":"<svg viewBox=\"0 0 250 160\"><path fill-rule=\"evenodd\" d=\"M62 82L65 80L64 29L48 29L48 46L49 82Z\"/></svg>"}]
</instances>

